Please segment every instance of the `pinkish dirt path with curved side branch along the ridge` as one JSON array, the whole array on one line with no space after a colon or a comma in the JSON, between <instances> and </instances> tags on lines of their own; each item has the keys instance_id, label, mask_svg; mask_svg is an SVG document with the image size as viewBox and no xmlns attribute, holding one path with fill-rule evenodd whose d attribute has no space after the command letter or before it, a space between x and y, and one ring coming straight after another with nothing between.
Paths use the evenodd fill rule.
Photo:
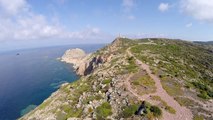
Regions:
<instances>
[{"instance_id":1,"label":"pinkish dirt path with curved side branch along the ridge","mask_svg":"<svg viewBox=\"0 0 213 120\"><path fill-rule=\"evenodd\" d=\"M160 79L152 74L150 68L148 65L142 63L140 60L138 60L129 50L130 48L127 49L127 53L129 56L133 56L136 60L136 63L138 64L138 66L145 70L147 72L147 74L155 81L155 85L157 87L156 92L153 94L147 94L147 95L138 95L134 89L132 89L131 84L129 82L130 78L132 77L132 75L130 75L127 78L127 81L125 82L125 85L127 86L127 89L133 94L135 95L138 99L140 100L147 100L150 95L157 95L160 96L162 100L164 100L169 106L173 107L176 110L176 114L169 114L168 112L163 112L163 119L164 120L192 120L193 119L193 115L192 112L187 109L186 107L182 107L179 105L179 103L177 101L175 101L173 99L173 97L171 97L170 95L168 95L168 93L163 89Z\"/></svg>"}]
</instances>

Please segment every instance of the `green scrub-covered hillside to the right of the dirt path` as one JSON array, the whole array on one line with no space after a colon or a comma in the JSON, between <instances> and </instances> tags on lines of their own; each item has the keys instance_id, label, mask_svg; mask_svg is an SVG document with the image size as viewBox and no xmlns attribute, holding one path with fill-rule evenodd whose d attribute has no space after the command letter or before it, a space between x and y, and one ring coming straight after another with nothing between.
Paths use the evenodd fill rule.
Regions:
<instances>
[{"instance_id":1,"label":"green scrub-covered hillside to the right of the dirt path","mask_svg":"<svg viewBox=\"0 0 213 120\"><path fill-rule=\"evenodd\" d=\"M203 104L213 99L212 49L181 40L156 38L135 45L131 52L150 66L152 74L159 76L163 88L180 105L189 108L193 114L199 111L205 115L203 118L209 119L211 108L208 106L205 108L207 111L201 110L204 107L193 99ZM174 112L170 107L166 109Z\"/></svg>"}]
</instances>

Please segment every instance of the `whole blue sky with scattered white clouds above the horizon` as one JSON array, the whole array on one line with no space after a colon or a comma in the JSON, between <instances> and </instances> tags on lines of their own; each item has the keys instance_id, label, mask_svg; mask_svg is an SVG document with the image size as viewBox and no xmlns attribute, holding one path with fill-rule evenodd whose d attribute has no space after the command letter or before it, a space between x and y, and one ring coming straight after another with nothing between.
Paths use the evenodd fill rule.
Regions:
<instances>
[{"instance_id":1,"label":"whole blue sky with scattered white clouds above the horizon","mask_svg":"<svg viewBox=\"0 0 213 120\"><path fill-rule=\"evenodd\" d=\"M213 0L0 0L0 51L163 37L213 40Z\"/></svg>"}]
</instances>

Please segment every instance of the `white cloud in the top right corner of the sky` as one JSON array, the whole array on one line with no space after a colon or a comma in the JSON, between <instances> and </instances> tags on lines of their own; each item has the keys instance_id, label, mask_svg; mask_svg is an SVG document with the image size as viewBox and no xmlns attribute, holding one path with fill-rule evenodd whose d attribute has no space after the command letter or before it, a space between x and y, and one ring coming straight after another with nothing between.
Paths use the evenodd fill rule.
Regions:
<instances>
[{"instance_id":1,"label":"white cloud in the top right corner of the sky","mask_svg":"<svg viewBox=\"0 0 213 120\"><path fill-rule=\"evenodd\" d=\"M213 0L182 0L182 10L195 19L213 22Z\"/></svg>"}]
</instances>

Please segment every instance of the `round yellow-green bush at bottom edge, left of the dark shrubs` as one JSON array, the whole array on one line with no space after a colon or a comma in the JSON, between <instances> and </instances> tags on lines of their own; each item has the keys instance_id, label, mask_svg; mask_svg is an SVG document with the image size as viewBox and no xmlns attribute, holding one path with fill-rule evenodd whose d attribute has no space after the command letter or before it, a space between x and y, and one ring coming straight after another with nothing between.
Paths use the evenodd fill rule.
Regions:
<instances>
[{"instance_id":1,"label":"round yellow-green bush at bottom edge, left of the dark shrubs","mask_svg":"<svg viewBox=\"0 0 213 120\"><path fill-rule=\"evenodd\" d=\"M96 108L96 115L98 119L104 119L109 115L112 115L111 105L108 102L102 103Z\"/></svg>"}]
</instances>

